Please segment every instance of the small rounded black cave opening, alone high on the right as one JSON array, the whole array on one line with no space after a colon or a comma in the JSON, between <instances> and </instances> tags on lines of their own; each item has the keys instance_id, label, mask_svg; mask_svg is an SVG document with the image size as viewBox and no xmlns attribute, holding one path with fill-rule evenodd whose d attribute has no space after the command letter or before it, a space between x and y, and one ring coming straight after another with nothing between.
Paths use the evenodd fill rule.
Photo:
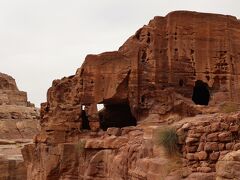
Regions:
<instances>
[{"instance_id":1,"label":"small rounded black cave opening, alone high on the right","mask_svg":"<svg viewBox=\"0 0 240 180\"><path fill-rule=\"evenodd\" d=\"M208 84L197 80L193 88L192 100L195 104L208 105L210 99L210 93Z\"/></svg>"}]
</instances>

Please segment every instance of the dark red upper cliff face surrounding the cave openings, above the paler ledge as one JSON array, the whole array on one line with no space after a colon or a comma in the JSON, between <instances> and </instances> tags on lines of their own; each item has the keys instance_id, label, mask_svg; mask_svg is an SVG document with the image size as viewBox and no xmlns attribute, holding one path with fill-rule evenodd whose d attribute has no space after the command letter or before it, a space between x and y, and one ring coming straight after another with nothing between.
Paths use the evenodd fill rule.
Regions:
<instances>
[{"instance_id":1,"label":"dark red upper cliff face surrounding the cave openings, above the paler ledge","mask_svg":"<svg viewBox=\"0 0 240 180\"><path fill-rule=\"evenodd\" d=\"M88 55L74 76L55 80L42 105L42 127L54 130L64 122L64 131L79 128L84 106L96 130L101 126L97 104L106 111L125 105L136 120L166 114L173 110L174 92L191 98L201 81L194 88L196 104L202 98L208 104L209 92L198 91L205 86L210 103L239 102L239 28L236 18L224 15L183 11L155 17L118 51Z\"/></svg>"}]
</instances>

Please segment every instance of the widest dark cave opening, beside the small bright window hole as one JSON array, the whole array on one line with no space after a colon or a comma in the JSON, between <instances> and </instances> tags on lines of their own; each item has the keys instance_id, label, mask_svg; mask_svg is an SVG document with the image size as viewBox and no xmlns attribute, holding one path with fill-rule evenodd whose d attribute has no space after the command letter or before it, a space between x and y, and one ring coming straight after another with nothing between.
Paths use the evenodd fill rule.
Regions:
<instances>
[{"instance_id":1,"label":"widest dark cave opening, beside the small bright window hole","mask_svg":"<svg viewBox=\"0 0 240 180\"><path fill-rule=\"evenodd\" d=\"M100 128L104 131L109 127L136 126L137 121L131 113L128 103L104 104L99 111Z\"/></svg>"}]
</instances>

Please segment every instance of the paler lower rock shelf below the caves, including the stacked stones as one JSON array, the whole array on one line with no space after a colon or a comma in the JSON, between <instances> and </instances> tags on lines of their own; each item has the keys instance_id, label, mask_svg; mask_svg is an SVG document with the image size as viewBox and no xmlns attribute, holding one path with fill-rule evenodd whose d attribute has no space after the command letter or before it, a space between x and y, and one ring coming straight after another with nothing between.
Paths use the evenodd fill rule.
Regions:
<instances>
[{"instance_id":1,"label":"paler lower rock shelf below the caves, including the stacked stones","mask_svg":"<svg viewBox=\"0 0 240 180\"><path fill-rule=\"evenodd\" d=\"M173 123L181 152L176 157L169 156L156 142L156 133L163 126L168 128L166 123L157 126L139 123L136 127L108 128L104 132L84 131L72 142L29 144L23 155L29 179L213 180L217 168L235 162L222 158L240 143L240 127L237 131L229 130L239 123L239 112L198 115ZM231 139L207 140L228 131ZM46 140L42 138L38 141ZM41 156L34 155L38 153ZM216 166L217 162L222 164Z\"/></svg>"}]
</instances>

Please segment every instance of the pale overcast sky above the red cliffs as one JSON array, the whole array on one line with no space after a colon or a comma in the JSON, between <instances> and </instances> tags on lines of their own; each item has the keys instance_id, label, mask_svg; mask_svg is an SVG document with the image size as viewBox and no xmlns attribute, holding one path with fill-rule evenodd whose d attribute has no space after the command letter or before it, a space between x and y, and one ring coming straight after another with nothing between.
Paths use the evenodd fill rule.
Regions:
<instances>
[{"instance_id":1,"label":"pale overcast sky above the red cliffs","mask_svg":"<svg viewBox=\"0 0 240 180\"><path fill-rule=\"evenodd\" d=\"M240 18L240 0L0 0L0 72L39 107L52 81L75 74L87 54L117 50L174 10Z\"/></svg>"}]
</instances>

